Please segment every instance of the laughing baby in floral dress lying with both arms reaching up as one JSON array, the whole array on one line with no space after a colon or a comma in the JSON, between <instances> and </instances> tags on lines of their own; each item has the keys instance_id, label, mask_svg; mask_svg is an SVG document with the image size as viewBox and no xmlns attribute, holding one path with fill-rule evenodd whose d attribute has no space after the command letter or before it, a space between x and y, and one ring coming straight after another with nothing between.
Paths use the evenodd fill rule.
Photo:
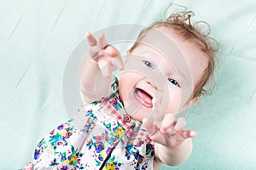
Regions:
<instances>
[{"instance_id":1,"label":"laughing baby in floral dress lying with both arms reaching up","mask_svg":"<svg viewBox=\"0 0 256 170\"><path fill-rule=\"evenodd\" d=\"M38 143L32 167L157 169L186 161L196 133L174 116L200 99L215 53L190 16L171 14L141 31L125 63L103 34L96 40L88 32L91 59L80 80L85 106ZM116 68L119 78L111 76Z\"/></svg>"}]
</instances>

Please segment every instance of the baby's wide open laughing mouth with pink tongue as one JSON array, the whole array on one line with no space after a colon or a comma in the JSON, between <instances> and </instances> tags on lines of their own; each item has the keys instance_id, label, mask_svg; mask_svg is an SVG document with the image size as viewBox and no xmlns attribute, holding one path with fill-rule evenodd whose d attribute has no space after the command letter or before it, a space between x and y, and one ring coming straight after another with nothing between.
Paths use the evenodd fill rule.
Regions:
<instances>
[{"instance_id":1,"label":"baby's wide open laughing mouth with pink tongue","mask_svg":"<svg viewBox=\"0 0 256 170\"><path fill-rule=\"evenodd\" d=\"M134 91L135 98L145 107L152 108L152 99L153 97L145 92L143 89L136 88Z\"/></svg>"}]
</instances>

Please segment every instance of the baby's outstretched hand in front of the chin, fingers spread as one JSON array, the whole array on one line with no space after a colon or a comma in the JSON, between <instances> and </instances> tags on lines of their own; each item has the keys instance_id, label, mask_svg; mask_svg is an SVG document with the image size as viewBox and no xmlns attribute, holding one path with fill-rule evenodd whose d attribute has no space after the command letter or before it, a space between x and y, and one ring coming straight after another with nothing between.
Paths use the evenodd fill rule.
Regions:
<instances>
[{"instance_id":1,"label":"baby's outstretched hand in front of the chin, fingers spread","mask_svg":"<svg viewBox=\"0 0 256 170\"><path fill-rule=\"evenodd\" d=\"M143 126L148 131L150 139L163 144L168 148L175 148L183 144L185 139L195 138L196 133L192 130L184 130L186 121L183 117L175 120L172 114L167 114L162 122L155 122L160 116L160 102L154 101L154 112L149 118L143 119Z\"/></svg>"}]
</instances>

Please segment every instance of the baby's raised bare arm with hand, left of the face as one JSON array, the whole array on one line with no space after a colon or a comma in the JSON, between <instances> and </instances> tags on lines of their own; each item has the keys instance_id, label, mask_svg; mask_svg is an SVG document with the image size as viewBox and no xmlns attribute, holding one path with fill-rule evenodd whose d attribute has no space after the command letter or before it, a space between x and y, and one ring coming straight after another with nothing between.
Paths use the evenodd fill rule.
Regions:
<instances>
[{"instance_id":1,"label":"baby's raised bare arm with hand, left of the face","mask_svg":"<svg viewBox=\"0 0 256 170\"><path fill-rule=\"evenodd\" d=\"M108 45L104 34L100 34L98 41L87 32L89 42L90 59L84 65L82 71L80 88L83 94L84 104L101 99L108 93L113 81L111 72L117 67L123 69L123 62L119 51Z\"/></svg>"}]
</instances>

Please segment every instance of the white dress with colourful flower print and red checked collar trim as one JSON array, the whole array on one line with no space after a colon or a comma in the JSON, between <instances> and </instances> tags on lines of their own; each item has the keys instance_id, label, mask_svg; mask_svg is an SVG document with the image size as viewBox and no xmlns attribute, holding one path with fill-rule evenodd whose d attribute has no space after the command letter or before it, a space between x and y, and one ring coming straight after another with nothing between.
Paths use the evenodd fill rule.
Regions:
<instances>
[{"instance_id":1,"label":"white dress with colourful flower print and red checked collar trim","mask_svg":"<svg viewBox=\"0 0 256 170\"><path fill-rule=\"evenodd\" d=\"M33 169L153 169L154 142L125 114L117 88L115 78L110 97L79 109L42 139Z\"/></svg>"}]
</instances>

